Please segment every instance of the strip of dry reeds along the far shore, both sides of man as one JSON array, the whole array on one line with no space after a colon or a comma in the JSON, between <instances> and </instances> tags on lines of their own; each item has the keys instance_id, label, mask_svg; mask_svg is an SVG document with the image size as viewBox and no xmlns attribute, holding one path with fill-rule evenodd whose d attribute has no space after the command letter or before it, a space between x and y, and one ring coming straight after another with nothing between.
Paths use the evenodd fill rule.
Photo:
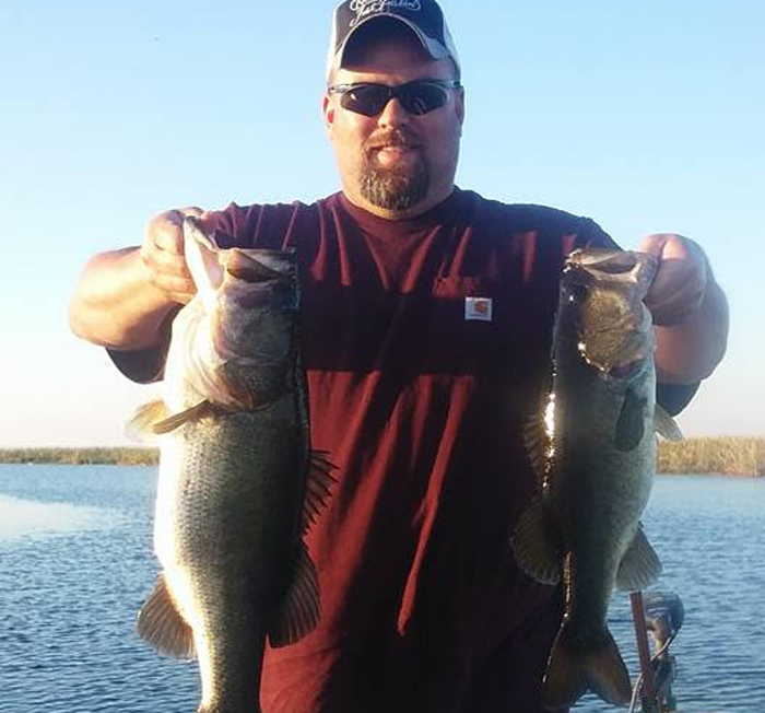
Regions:
<instances>
[{"instance_id":1,"label":"strip of dry reeds along the far shore, both sides of man","mask_svg":"<svg viewBox=\"0 0 765 713\"><path fill-rule=\"evenodd\" d=\"M156 448L0 448L0 463L154 466ZM765 476L765 436L686 439L659 444L657 472Z\"/></svg>"}]
</instances>

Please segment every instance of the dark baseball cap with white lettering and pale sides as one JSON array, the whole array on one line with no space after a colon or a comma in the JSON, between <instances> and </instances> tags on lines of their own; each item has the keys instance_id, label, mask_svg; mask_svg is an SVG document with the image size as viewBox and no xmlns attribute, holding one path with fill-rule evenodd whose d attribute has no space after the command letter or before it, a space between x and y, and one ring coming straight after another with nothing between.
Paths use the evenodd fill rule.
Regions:
<instances>
[{"instance_id":1,"label":"dark baseball cap with white lettering and pale sides","mask_svg":"<svg viewBox=\"0 0 765 713\"><path fill-rule=\"evenodd\" d=\"M404 23L433 59L450 57L459 71L455 42L435 0L345 0L332 15L327 77L342 66L343 52L353 33L376 17L392 17Z\"/></svg>"}]
</instances>

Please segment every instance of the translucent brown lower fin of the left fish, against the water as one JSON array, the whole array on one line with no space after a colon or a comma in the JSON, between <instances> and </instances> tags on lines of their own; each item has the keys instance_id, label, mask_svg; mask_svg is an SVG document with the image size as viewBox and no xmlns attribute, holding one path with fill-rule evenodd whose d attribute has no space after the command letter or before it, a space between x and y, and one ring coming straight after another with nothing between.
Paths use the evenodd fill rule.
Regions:
<instances>
[{"instance_id":1,"label":"translucent brown lower fin of the left fish, against the water","mask_svg":"<svg viewBox=\"0 0 765 713\"><path fill-rule=\"evenodd\" d=\"M178 658L196 655L191 627L178 611L162 574L138 613L136 628L141 638L162 654Z\"/></svg>"}]
</instances>

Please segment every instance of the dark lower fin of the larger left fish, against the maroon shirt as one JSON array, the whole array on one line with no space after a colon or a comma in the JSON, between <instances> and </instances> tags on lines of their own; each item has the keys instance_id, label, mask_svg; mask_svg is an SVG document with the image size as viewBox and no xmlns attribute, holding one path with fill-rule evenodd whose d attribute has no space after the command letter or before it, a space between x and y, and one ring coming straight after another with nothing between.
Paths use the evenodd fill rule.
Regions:
<instances>
[{"instance_id":1,"label":"dark lower fin of the larger left fish, against the maroon shirt","mask_svg":"<svg viewBox=\"0 0 765 713\"><path fill-rule=\"evenodd\" d=\"M319 615L319 583L316 566L306 546L301 542L292 584L269 629L269 643L274 647L295 643L316 628Z\"/></svg>"}]
</instances>

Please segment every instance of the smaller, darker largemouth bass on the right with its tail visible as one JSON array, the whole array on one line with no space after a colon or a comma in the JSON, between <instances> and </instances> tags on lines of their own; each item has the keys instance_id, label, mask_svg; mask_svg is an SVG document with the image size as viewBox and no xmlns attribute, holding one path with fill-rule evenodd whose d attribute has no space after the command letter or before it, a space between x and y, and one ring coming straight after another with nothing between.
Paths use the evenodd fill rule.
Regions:
<instances>
[{"instance_id":1,"label":"smaller, darker largemouth bass on the right with its tail visible","mask_svg":"<svg viewBox=\"0 0 765 713\"><path fill-rule=\"evenodd\" d=\"M541 494L519 519L521 568L563 582L565 605L544 677L550 709L587 690L628 704L629 675L605 616L612 591L642 589L661 564L640 527L656 468L656 431L678 439L655 401L656 348L643 303L655 257L576 250L566 260L546 406L527 433Z\"/></svg>"}]
</instances>

